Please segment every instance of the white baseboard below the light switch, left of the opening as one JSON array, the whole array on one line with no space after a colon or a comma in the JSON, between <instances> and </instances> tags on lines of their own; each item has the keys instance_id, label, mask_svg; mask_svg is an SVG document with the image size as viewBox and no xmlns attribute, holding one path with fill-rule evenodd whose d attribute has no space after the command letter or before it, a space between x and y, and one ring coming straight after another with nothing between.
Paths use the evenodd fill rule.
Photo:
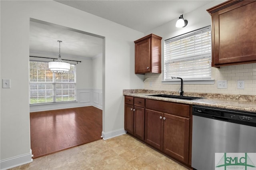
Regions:
<instances>
[{"instance_id":1,"label":"white baseboard below the light switch, left of the opening","mask_svg":"<svg viewBox=\"0 0 256 170\"><path fill-rule=\"evenodd\" d=\"M7 170L10 168L14 168L16 166L28 164L30 162L33 162L32 159L32 150L30 149L30 153L22 154L19 156L14 156L12 158L0 160L0 167L1 170Z\"/></svg>"}]
</instances>

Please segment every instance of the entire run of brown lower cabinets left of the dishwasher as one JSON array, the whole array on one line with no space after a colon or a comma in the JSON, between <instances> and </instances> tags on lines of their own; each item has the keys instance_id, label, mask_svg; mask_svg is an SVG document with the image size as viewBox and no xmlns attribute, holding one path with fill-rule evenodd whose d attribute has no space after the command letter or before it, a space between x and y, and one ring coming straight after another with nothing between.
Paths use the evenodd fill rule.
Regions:
<instances>
[{"instance_id":1,"label":"entire run of brown lower cabinets left of the dishwasher","mask_svg":"<svg viewBox=\"0 0 256 170\"><path fill-rule=\"evenodd\" d=\"M134 97L125 103L124 115L129 134L191 166L190 105Z\"/></svg>"}]
</instances>

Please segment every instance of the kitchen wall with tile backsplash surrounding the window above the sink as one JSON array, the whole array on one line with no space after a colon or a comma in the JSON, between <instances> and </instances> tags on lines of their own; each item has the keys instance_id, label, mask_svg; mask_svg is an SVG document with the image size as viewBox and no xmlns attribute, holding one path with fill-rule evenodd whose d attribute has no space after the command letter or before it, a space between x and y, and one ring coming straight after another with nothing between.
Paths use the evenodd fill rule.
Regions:
<instances>
[{"instance_id":1,"label":"kitchen wall with tile backsplash surrounding the window above the sink","mask_svg":"<svg viewBox=\"0 0 256 170\"><path fill-rule=\"evenodd\" d=\"M177 19L172 20L158 28L150 30L146 34L154 33L161 36L162 39L162 74L145 74L144 89L178 91L180 85L162 84L162 76L164 73L164 40L190 32L205 26L211 25L211 16L206 11L208 8L216 6L224 1L215 0L209 2L205 6L198 8L188 14L184 14L185 20L188 20L188 25L185 28L176 28ZM178 18L178 16L177 16ZM200 93L225 93L225 94L240 94L240 95L256 95L256 64L224 66L220 69L212 67L212 79L215 79L213 85L184 85L184 92L200 92ZM218 89L216 81L227 80L227 89ZM245 89L237 89L237 80L245 81ZM152 86L150 86L152 82Z\"/></svg>"}]
</instances>

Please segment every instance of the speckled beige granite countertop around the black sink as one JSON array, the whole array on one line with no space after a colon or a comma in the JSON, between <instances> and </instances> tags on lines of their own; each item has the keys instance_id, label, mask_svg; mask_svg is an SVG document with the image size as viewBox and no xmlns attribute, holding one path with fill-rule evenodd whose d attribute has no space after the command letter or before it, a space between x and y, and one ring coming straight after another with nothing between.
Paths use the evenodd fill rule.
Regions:
<instances>
[{"instance_id":1,"label":"speckled beige granite countertop around the black sink","mask_svg":"<svg viewBox=\"0 0 256 170\"><path fill-rule=\"evenodd\" d=\"M134 90L124 90L123 95L140 97L144 99L154 99L161 101L170 101L177 103L186 103L190 105L201 105L218 107L224 109L234 109L240 111L249 111L256 114L256 96L252 95L225 95L225 94L213 94L213 93L184 93L184 96L194 96L194 97L204 97L203 99L196 100L183 100L183 99L173 99L164 97L154 97L148 95L154 94L168 94L168 95L179 95L177 92L172 91L154 91L145 89L134 89Z\"/></svg>"}]
</instances>

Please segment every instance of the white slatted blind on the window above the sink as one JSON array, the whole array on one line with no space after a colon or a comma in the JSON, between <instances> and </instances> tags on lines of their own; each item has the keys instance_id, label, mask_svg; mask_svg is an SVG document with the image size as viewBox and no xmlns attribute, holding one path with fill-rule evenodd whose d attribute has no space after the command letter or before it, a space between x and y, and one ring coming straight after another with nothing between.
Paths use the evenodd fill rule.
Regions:
<instances>
[{"instance_id":1,"label":"white slatted blind on the window above the sink","mask_svg":"<svg viewBox=\"0 0 256 170\"><path fill-rule=\"evenodd\" d=\"M211 27L164 41L164 81L211 79Z\"/></svg>"}]
</instances>

